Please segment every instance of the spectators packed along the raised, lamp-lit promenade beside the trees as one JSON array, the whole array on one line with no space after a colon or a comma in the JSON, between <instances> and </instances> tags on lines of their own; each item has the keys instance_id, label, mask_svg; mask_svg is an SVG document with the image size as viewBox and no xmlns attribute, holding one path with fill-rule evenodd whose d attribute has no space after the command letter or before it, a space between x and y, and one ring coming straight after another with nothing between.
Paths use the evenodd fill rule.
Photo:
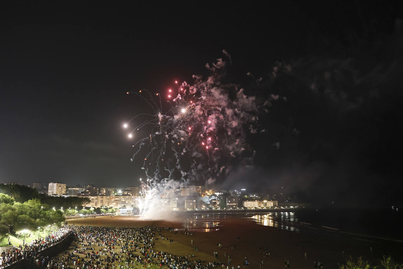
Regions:
<instances>
[{"instance_id":1,"label":"spectators packed along the raised, lamp-lit promenade beside the trees","mask_svg":"<svg viewBox=\"0 0 403 269\"><path fill-rule=\"evenodd\" d=\"M71 231L70 227L63 226L58 231L54 231L46 237L33 240L24 246L13 246L12 248L3 250L0 259L0 269L9 266L12 263L21 261L22 259L27 259L32 263L37 261L37 264L39 264L39 261L41 264L45 263L50 260L50 258L48 256L43 256L41 251L60 243L72 232L73 231Z\"/></svg>"}]
</instances>

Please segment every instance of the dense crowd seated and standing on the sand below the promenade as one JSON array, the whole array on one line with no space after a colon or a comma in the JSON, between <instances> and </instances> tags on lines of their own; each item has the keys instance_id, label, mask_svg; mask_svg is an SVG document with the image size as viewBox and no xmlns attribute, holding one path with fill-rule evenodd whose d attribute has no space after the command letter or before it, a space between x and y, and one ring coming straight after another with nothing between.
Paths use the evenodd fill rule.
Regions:
<instances>
[{"instance_id":1,"label":"dense crowd seated and standing on the sand below the promenade","mask_svg":"<svg viewBox=\"0 0 403 269\"><path fill-rule=\"evenodd\" d=\"M170 227L94 227L70 226L77 234L77 245L50 261L57 269L129 269L154 266L168 269L207 269L224 267L217 259L206 262L194 254L175 255L154 250L156 240L169 240ZM173 240L172 240L173 241Z\"/></svg>"}]
</instances>

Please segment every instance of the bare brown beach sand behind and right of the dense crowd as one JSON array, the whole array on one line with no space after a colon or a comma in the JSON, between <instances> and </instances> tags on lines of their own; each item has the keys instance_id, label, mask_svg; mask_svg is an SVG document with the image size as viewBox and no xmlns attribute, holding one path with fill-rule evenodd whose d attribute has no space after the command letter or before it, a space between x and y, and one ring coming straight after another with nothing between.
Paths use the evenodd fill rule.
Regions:
<instances>
[{"instance_id":1,"label":"bare brown beach sand behind and right of the dense crowd","mask_svg":"<svg viewBox=\"0 0 403 269\"><path fill-rule=\"evenodd\" d=\"M186 217L185 217L186 218ZM166 220L139 220L137 217L114 216L96 217L89 219L67 220L69 224L109 226L109 227L138 227L154 225L158 227L183 228L183 218L177 217L172 221ZM344 235L339 232L322 234L320 231L307 229L304 233L277 230L275 227L268 227L257 224L251 219L240 217L220 218L220 226L217 231L202 232L196 231L193 236L181 234L181 231L164 232L165 238L169 240L157 240L156 250L163 250L173 254L195 254L194 259L202 261L214 261L213 252L218 252L218 260L227 264L228 254L231 254L231 265L241 265L247 256L250 268L258 268L260 261L264 261L265 268L285 268L285 261L289 261L290 268L314 268L314 262L320 261L324 268L338 268L338 264L344 264L348 256L363 256L364 259L377 263L383 254L401 253L403 243L391 241L373 241L368 238L360 238L354 235ZM156 235L158 238L158 234ZM237 238L240 238L238 240ZM195 244L191 244L194 240ZM222 248L217 247L217 243ZM236 247L231 248L231 245ZM298 248L299 245L299 248ZM194 246L198 246L195 252ZM269 258L263 257L264 247L270 252ZM262 247L262 252L259 252ZM372 247L372 252L370 251ZM345 252L344 257L342 251ZM226 252L227 257L224 257ZM305 252L307 258L305 259ZM401 259L401 258L400 258ZM400 260L398 260L400 261Z\"/></svg>"}]
</instances>

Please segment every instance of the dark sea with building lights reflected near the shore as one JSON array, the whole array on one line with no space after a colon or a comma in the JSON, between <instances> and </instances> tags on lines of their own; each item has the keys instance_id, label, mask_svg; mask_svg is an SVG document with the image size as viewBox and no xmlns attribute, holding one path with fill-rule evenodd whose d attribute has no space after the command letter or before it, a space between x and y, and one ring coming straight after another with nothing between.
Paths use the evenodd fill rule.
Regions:
<instances>
[{"instance_id":1,"label":"dark sea with building lights reflected near the shore","mask_svg":"<svg viewBox=\"0 0 403 269\"><path fill-rule=\"evenodd\" d=\"M184 221L189 230L217 231L224 219L246 218L260 225L296 233L338 233L370 240L403 242L403 214L389 209L298 209L295 211L195 213Z\"/></svg>"}]
</instances>

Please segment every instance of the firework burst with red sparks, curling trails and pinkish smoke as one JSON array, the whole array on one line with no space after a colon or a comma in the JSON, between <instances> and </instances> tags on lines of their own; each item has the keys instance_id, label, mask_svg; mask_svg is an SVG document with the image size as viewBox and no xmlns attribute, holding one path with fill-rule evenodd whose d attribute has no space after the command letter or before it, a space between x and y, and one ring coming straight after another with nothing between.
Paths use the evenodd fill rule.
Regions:
<instances>
[{"instance_id":1,"label":"firework burst with red sparks, curling trails and pinkish smoke","mask_svg":"<svg viewBox=\"0 0 403 269\"><path fill-rule=\"evenodd\" d=\"M167 186L172 187L172 183L212 184L225 178L234 165L253 157L246 135L261 131L258 114L267 111L267 103L246 96L238 85L222 84L220 79L225 75L222 58L206 67L210 75L205 80L194 75L193 85L186 81L179 85L175 81L177 90L168 89L162 98L160 93L151 94L147 90L128 92L147 102L154 113L141 113L124 125L136 126L130 133L134 137L138 129L149 130L149 136L133 145L138 149L131 158L144 159L142 169L147 176L148 191L143 193L147 195L153 192L155 196ZM236 96L230 98L229 92L234 90ZM170 104L165 113L162 99ZM139 121L141 116L145 120ZM147 199L142 201L144 212Z\"/></svg>"}]
</instances>

